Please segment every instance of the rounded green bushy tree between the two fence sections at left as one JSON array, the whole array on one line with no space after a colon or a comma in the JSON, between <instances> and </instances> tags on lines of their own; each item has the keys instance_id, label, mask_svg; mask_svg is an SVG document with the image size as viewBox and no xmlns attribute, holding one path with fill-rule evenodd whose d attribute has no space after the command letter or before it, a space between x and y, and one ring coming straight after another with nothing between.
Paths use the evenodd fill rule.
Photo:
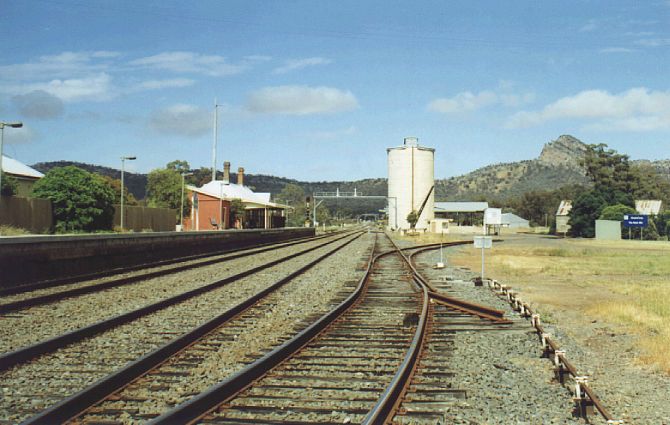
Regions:
<instances>
[{"instance_id":1,"label":"rounded green bushy tree between the two fence sections at left","mask_svg":"<svg viewBox=\"0 0 670 425\"><path fill-rule=\"evenodd\" d=\"M57 232L112 228L114 190L97 174L74 166L52 168L32 195L51 200Z\"/></svg>"}]
</instances>

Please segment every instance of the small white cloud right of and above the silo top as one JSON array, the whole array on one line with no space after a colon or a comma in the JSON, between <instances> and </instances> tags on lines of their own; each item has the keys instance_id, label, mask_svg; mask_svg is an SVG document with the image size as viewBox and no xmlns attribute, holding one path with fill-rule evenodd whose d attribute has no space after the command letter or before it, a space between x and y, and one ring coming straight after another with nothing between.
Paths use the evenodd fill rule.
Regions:
<instances>
[{"instance_id":1,"label":"small white cloud right of and above the silo top","mask_svg":"<svg viewBox=\"0 0 670 425\"><path fill-rule=\"evenodd\" d=\"M502 81L503 88L511 88L512 83ZM508 107L525 105L535 100L534 93L515 94L509 92L496 93L484 90L479 93L465 91L449 98L438 98L428 104L428 110L443 114L454 114L460 112L472 112L488 106L500 104Z\"/></svg>"}]
</instances>

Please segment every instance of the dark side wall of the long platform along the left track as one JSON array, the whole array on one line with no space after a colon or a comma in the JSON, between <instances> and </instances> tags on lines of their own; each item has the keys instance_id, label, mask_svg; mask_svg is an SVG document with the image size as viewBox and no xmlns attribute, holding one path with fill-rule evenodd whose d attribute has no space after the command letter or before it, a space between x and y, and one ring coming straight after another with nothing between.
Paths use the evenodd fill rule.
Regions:
<instances>
[{"instance_id":1,"label":"dark side wall of the long platform along the left track","mask_svg":"<svg viewBox=\"0 0 670 425\"><path fill-rule=\"evenodd\" d=\"M0 238L0 288L313 235L291 228Z\"/></svg>"}]
</instances>

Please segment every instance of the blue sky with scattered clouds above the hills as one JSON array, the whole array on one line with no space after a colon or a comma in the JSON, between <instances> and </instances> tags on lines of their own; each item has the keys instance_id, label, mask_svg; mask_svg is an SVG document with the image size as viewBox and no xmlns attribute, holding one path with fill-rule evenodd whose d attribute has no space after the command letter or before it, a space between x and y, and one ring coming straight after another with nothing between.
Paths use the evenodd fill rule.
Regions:
<instances>
[{"instance_id":1,"label":"blue sky with scattered clouds above the hills","mask_svg":"<svg viewBox=\"0 0 670 425\"><path fill-rule=\"evenodd\" d=\"M670 158L670 1L0 0L5 155L303 181L532 159L562 134ZM214 105L218 105L216 108Z\"/></svg>"}]
</instances>

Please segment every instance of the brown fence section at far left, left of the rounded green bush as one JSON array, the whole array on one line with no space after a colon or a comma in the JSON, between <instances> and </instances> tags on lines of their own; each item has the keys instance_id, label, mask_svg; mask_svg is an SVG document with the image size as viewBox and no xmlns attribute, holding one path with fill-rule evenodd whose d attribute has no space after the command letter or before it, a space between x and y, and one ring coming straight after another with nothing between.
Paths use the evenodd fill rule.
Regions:
<instances>
[{"instance_id":1,"label":"brown fence section at far left, left of the rounded green bush","mask_svg":"<svg viewBox=\"0 0 670 425\"><path fill-rule=\"evenodd\" d=\"M53 227L51 201L0 196L0 225L20 227L32 233L49 232Z\"/></svg>"}]
</instances>

